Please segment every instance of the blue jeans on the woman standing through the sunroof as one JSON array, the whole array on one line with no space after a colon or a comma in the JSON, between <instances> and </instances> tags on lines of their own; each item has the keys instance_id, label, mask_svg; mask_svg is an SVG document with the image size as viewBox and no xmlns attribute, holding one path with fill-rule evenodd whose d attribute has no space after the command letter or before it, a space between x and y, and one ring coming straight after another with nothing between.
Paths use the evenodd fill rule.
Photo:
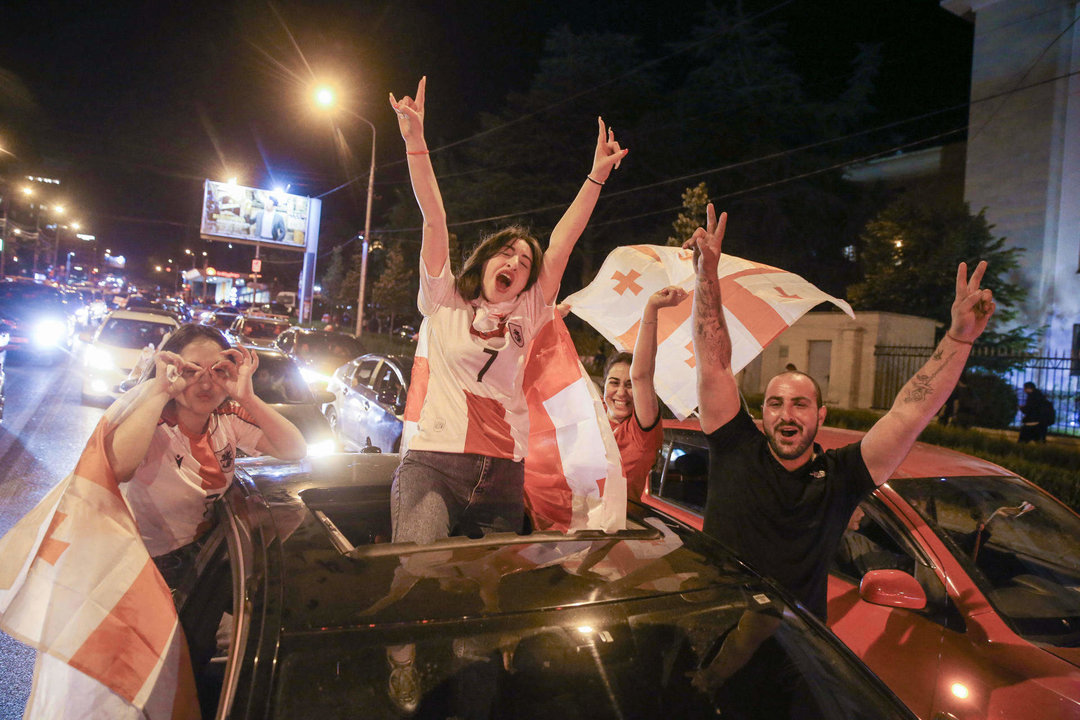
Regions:
<instances>
[{"instance_id":1,"label":"blue jeans on the woman standing through the sunroof","mask_svg":"<svg viewBox=\"0 0 1080 720\"><path fill-rule=\"evenodd\" d=\"M514 532L525 518L525 463L504 458L408 450L394 471L394 542Z\"/></svg>"}]
</instances>

